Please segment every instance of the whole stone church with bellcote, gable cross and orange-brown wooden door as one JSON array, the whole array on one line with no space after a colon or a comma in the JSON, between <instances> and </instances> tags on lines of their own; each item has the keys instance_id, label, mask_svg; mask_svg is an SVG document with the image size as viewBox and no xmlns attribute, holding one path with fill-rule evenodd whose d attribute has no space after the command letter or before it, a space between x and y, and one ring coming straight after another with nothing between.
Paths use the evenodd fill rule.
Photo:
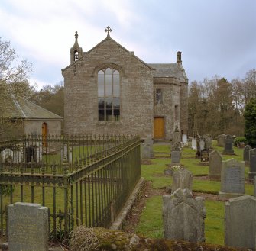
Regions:
<instances>
[{"instance_id":1,"label":"whole stone church with bellcote, gable cross and orange-brown wooden door","mask_svg":"<svg viewBox=\"0 0 256 251\"><path fill-rule=\"evenodd\" d=\"M188 79L176 63L145 63L110 37L87 52L78 34L64 77L65 134L132 134L170 140L187 134Z\"/></svg>"}]
</instances>

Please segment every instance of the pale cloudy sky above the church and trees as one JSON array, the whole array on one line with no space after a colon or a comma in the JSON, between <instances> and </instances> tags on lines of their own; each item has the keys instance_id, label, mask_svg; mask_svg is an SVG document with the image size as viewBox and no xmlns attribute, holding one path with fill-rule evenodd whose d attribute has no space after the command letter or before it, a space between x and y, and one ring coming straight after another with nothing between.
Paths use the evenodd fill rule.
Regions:
<instances>
[{"instance_id":1,"label":"pale cloudy sky above the church and trees","mask_svg":"<svg viewBox=\"0 0 256 251\"><path fill-rule=\"evenodd\" d=\"M0 37L33 63L31 83L54 85L79 46L111 37L146 63L174 63L190 79L243 78L256 68L256 0L1 0Z\"/></svg>"}]
</instances>

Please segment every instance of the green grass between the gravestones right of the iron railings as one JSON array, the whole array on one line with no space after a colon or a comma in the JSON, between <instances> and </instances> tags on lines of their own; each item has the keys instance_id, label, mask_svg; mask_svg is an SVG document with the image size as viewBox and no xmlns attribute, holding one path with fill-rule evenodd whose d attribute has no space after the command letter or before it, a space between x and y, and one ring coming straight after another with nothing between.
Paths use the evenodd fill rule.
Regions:
<instances>
[{"instance_id":1,"label":"green grass between the gravestones right of the iron railings","mask_svg":"<svg viewBox=\"0 0 256 251\"><path fill-rule=\"evenodd\" d=\"M151 165L141 165L141 176L146 181L151 181L154 189L165 188L172 184L172 177L164 175L164 170L170 164L170 144L154 144L155 159L151 159ZM212 148L223 151L223 147L216 146L213 140ZM237 159L242 161L243 149L234 146L235 155L222 155L223 160ZM202 175L208 175L209 166L202 166L200 159L195 158L196 150L185 147L182 150L180 164L185 166L193 173L193 190L202 192L212 192L214 194L220 191L220 181L209 181L200 179ZM169 157L168 157L169 156ZM248 174L248 167L245 168L245 179ZM254 194L254 185L245 184L245 194ZM206 200L206 220L205 236L207 243L224 244L224 202ZM163 220L162 220L162 196L155 195L147 199L144 210L142 211L140 221L136 232L145 237L162 238L163 237Z\"/></svg>"}]
</instances>

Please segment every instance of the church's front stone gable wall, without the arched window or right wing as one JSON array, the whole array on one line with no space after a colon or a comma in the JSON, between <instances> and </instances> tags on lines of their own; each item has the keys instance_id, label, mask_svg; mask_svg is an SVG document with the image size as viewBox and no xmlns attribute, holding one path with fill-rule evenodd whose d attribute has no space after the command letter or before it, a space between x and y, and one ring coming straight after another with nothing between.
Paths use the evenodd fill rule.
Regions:
<instances>
[{"instance_id":1,"label":"church's front stone gable wall, without the arched window or right wing","mask_svg":"<svg viewBox=\"0 0 256 251\"><path fill-rule=\"evenodd\" d=\"M101 67L120 72L120 121L99 121L97 74ZM103 40L65 70L65 134L153 136L153 76L141 60L113 40Z\"/></svg>"}]
</instances>

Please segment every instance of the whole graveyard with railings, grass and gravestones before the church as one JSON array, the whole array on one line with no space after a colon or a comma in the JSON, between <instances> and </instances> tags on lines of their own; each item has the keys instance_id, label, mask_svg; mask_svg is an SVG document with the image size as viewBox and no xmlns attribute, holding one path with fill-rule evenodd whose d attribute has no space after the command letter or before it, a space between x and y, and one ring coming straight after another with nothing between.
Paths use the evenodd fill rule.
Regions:
<instances>
[{"instance_id":1,"label":"whole graveyard with railings, grass and gravestones before the church","mask_svg":"<svg viewBox=\"0 0 256 251\"><path fill-rule=\"evenodd\" d=\"M79 230L79 226L108 228L120 211L118 207L122 208L124 199L130 194L139 176L144 177L144 182L131 211L122 223L121 227L125 232L118 232L118 235L124 238L139 238L140 241L144 240L143 238L150 238L151 246L158 245L156 250L159 248L157 242L173 248L171 240L205 243L203 244L205 249L209 244L234 246L234 234L230 229L228 230L227 226L239 230L243 221L251 224L250 219L254 219L255 159L254 149L250 146L238 148L232 143L230 145L228 140L225 140L225 143L228 141L227 144L222 144L221 140L199 137L195 148L192 142L182 146L182 143L179 145L175 142L153 143L153 140L147 138L141 144L141 168L138 166L138 159L134 159L129 167L131 172L134 172L135 169L132 169L132 166L135 164L136 169L140 169L141 172L136 171L137 174L130 177L128 172L125 175L122 174L120 161L123 161L122 153L125 149L127 163L139 154L138 138L66 137L63 141L60 138L56 141L51 139L47 141L48 150L44 148L47 152L55 149L55 154L50 155L41 154L43 148L38 143L37 137L28 137L26 140L28 141L23 143L24 146L34 145L36 148L29 153L29 156L25 154L28 164L25 162L20 167L18 163L21 162L21 153L14 151L18 146L11 150L11 146L8 148L8 144L6 145L7 141L2 142L2 146L5 144L6 148L2 150L1 155L5 160L1 164L1 180L2 184L12 184L13 189L8 195L1 195L0 229L5 233L8 224L11 250L21 246L19 242L27 241L21 235L21 228L30 233L28 240L30 247L36 247L37 243L41 243L42 249L38 250L47 250L48 240L51 243L63 238L65 240L66 232L73 233L72 230L76 231L76 227ZM13 144L13 141L11 143ZM25 150L22 151L26 153ZM201 156L198 156L198 152ZM117 160L120 153L122 158ZM114 159L113 156L115 156ZM37 163L33 161L34 159L37 161L41 159L41 161ZM106 159L109 160L106 161ZM37 165L41 165L40 169ZM61 165L64 165L63 170ZM112 171L111 165L115 166ZM83 166L87 166L87 169ZM11 173L6 175L8 169L11 169ZM37 177L32 179L28 175L25 178L27 172ZM23 182L22 175L24 175ZM66 183L67 175L70 175L70 183ZM119 194L123 189L126 189L125 193ZM112 198L115 198L114 201L118 201L118 204L116 202L113 204ZM183 206L180 200L184 200L185 204L190 206L176 211L177 207ZM26 204L20 201L33 203ZM235 206L236 204L238 206ZM115 214L113 214L113 205ZM7 215L3 209L6 206L8 206L8 222L5 222ZM47 207L50 209L50 214ZM191 208L194 209L191 211ZM20 217L24 211L37 215L38 223L31 216ZM245 219L241 217L241 222L237 220L234 222L234 215L245 211L249 216ZM183 222L184 225L180 224L183 217L187 218ZM44 224L40 219L45 220ZM225 224L225 219L229 222L228 225ZM34 242L37 240L34 227L41 229L42 240L38 240L37 243ZM92 234L88 233L88 229L83 230L84 234ZM254 231L254 224L251 224L250 229ZM91 231L94 231L93 228ZM95 231L102 234L100 229ZM112 230L103 231L110 236L113 234ZM79 237L73 238L79 240ZM5 235L2 236L2 241L6 241ZM70 240L70 243L72 241ZM251 239L247 245L254 245L249 243L250 241ZM147 248L148 245L144 247ZM179 245L187 244L181 242ZM239 241L236 245L240 245ZM28 249L27 244L24 244L24 248ZM218 248L228 250L228 247L219 246ZM4 246L2 250L5 250ZM69 249L66 246L64 250Z\"/></svg>"}]
</instances>

